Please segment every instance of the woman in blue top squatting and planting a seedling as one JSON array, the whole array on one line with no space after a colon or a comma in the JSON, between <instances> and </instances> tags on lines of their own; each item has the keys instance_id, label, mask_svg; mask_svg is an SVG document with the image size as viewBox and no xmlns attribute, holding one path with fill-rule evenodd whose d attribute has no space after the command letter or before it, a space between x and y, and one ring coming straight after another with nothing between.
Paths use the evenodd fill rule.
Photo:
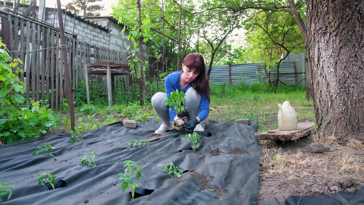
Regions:
<instances>
[{"instance_id":1,"label":"woman in blue top squatting and planting a seedling","mask_svg":"<svg viewBox=\"0 0 364 205\"><path fill-rule=\"evenodd\" d=\"M190 120L185 123L185 130L193 132L196 125L209 115L210 86L206 77L206 67L203 57L198 53L190 53L182 61L182 71L169 74L165 80L166 93L158 92L152 97L152 105L163 124L154 133L161 135L171 128L171 121L177 115L175 109L164 103L170 99L171 92L185 92L185 107Z\"/></svg>"}]
</instances>

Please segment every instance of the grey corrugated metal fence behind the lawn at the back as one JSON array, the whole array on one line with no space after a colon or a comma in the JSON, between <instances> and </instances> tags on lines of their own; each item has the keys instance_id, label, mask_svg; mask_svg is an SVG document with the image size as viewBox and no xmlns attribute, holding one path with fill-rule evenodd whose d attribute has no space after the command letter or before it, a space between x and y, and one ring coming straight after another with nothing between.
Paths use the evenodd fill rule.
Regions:
<instances>
[{"instance_id":1,"label":"grey corrugated metal fence behind the lawn at the back","mask_svg":"<svg viewBox=\"0 0 364 205\"><path fill-rule=\"evenodd\" d=\"M210 73L211 84L238 84L245 82L248 84L267 81L268 76L264 71L265 63L245 63L230 64L222 66L212 66ZM209 69L209 67L206 67ZM260 74L258 74L260 73ZM284 83L296 83L296 67L294 61L283 61L280 65L280 80ZM276 79L277 67L270 72L270 80Z\"/></svg>"}]
</instances>

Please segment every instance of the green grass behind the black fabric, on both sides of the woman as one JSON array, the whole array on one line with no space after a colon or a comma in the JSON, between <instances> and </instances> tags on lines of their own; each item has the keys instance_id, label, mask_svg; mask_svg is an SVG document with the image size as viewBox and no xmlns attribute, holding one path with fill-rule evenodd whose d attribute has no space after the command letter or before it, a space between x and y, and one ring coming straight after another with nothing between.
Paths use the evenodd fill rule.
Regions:
<instances>
[{"instance_id":1,"label":"green grass behind the black fabric, on both sides of the woman","mask_svg":"<svg viewBox=\"0 0 364 205\"><path fill-rule=\"evenodd\" d=\"M136 89L138 90L138 89ZM210 114L207 119L214 121L228 121L243 118L258 121L258 132L276 129L278 103L290 101L292 106L312 107L313 102L305 100L305 87L286 87L279 85L275 94L273 89L262 83L246 85L240 83L233 86L211 85ZM137 95L136 95L137 96ZM128 98L128 97L127 97ZM75 108L76 127L75 133L82 133L98 129L106 125L121 121L124 117L132 120L145 121L146 116L154 116L160 120L150 103L150 97L145 100L145 106L139 102L120 101L113 107L106 103L78 106ZM296 109L298 121L312 121L312 109ZM62 113L60 120L67 123L70 131L70 118L67 108ZM206 119L206 120L207 120Z\"/></svg>"}]
</instances>

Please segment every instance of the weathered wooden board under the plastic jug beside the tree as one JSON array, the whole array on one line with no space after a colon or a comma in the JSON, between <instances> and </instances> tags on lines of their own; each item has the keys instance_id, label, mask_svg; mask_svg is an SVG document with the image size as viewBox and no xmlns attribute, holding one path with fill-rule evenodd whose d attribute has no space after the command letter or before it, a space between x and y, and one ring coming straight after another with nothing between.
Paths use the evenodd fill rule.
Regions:
<instances>
[{"instance_id":1,"label":"weathered wooden board under the plastic jug beside the tree","mask_svg":"<svg viewBox=\"0 0 364 205\"><path fill-rule=\"evenodd\" d=\"M306 135L311 134L313 131L313 122L298 123L297 130L282 131L279 129L269 130L263 133L254 134L258 139L267 140L297 140Z\"/></svg>"}]
</instances>

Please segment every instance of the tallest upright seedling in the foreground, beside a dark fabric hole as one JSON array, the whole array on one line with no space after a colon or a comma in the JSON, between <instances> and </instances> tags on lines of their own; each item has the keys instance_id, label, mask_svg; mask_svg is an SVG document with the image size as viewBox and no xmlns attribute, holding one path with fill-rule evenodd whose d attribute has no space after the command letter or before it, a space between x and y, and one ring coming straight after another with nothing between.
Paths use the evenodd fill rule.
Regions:
<instances>
[{"instance_id":1,"label":"tallest upright seedling in the foreground, beside a dark fabric hole","mask_svg":"<svg viewBox=\"0 0 364 205\"><path fill-rule=\"evenodd\" d=\"M124 164L125 164L124 167L126 167L126 169L124 173L118 174L118 177L120 177L119 182L123 181L121 185L122 192L124 192L129 185L131 192L131 200L134 200L135 188L139 188L139 186L137 185L137 183L133 182L131 178L131 171L137 170L137 180L138 180L141 177L140 168L131 160L125 160Z\"/></svg>"}]
</instances>

